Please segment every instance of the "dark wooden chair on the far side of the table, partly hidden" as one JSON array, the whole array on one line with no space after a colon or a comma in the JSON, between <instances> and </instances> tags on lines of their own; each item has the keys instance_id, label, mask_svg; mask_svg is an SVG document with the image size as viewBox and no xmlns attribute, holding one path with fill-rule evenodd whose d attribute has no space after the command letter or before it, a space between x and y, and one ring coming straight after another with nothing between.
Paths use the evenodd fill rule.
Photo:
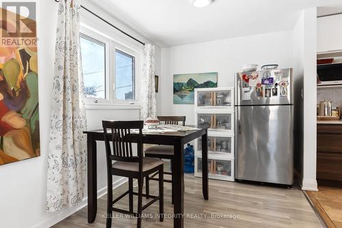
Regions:
<instances>
[{"instance_id":1,"label":"dark wooden chair on the far side of the table, partly hidden","mask_svg":"<svg viewBox=\"0 0 342 228\"><path fill-rule=\"evenodd\" d=\"M157 116L158 120L161 121L161 123L164 123L166 125L179 125L181 123L183 126L185 125L185 116ZM157 145L153 147L149 147L145 149L145 156L146 157L157 157L159 159L169 159L171 167L174 159L174 148L173 146L165 146L165 145ZM164 172L164 174L171 175L172 177L173 172ZM149 194L150 190L150 179L157 181L157 178L154 178L157 173L151 175L150 177L146 177L146 194ZM172 183L172 203L173 203L173 197L174 197L174 183L173 178L171 179L164 179L163 181Z\"/></svg>"}]
</instances>

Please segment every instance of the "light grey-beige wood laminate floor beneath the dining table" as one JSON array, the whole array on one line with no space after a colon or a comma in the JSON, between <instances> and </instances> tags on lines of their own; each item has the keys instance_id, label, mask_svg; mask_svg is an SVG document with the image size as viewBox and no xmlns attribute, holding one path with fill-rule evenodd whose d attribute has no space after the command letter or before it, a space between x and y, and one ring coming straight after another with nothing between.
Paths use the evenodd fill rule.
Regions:
<instances>
[{"instance_id":1,"label":"light grey-beige wood laminate floor beneath the dining table","mask_svg":"<svg viewBox=\"0 0 342 228\"><path fill-rule=\"evenodd\" d=\"M151 181L151 193L157 192L157 182ZM114 195L128 189L127 183L114 191ZM170 183L164 184L164 211L172 214ZM137 188L135 188L135 191ZM224 228L224 227L323 227L319 218L299 188L285 189L269 186L256 186L246 183L209 180L209 201L202 197L201 179L185 175L185 218L184 227ZM137 198L135 197L135 210ZM118 202L122 209L128 209L128 197ZM106 196L98 200L98 212L94 223L87 222L87 207L62 220L54 228L105 227L103 214L106 211ZM144 214L158 212L158 203L148 207ZM196 214L205 214L209 218L199 218ZM116 218L112 227L136 227L136 219ZM196 218L189 218L197 216ZM226 216L228 218L211 218ZM233 218L229 218L233 217ZM160 223L157 218L143 218L142 227L173 227L172 218Z\"/></svg>"}]
</instances>

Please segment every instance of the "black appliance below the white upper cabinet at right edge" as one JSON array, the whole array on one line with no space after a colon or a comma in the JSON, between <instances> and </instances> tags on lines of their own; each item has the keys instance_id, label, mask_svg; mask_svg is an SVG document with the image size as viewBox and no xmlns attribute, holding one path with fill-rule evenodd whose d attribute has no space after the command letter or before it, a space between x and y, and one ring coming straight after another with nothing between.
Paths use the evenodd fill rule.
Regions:
<instances>
[{"instance_id":1,"label":"black appliance below the white upper cabinet at right edge","mask_svg":"<svg viewBox=\"0 0 342 228\"><path fill-rule=\"evenodd\" d=\"M342 85L342 63L317 65L320 84L317 86Z\"/></svg>"}]
</instances>

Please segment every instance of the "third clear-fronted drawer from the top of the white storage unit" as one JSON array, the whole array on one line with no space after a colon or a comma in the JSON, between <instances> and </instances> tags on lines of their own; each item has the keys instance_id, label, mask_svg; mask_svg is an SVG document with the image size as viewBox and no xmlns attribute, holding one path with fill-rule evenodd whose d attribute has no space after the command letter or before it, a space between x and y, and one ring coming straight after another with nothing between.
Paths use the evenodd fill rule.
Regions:
<instances>
[{"instance_id":1,"label":"third clear-fronted drawer from the top of the white storage unit","mask_svg":"<svg viewBox=\"0 0 342 228\"><path fill-rule=\"evenodd\" d=\"M233 136L208 136L208 152L213 154L232 155ZM202 138L197 140L198 151L202 151Z\"/></svg>"}]
</instances>

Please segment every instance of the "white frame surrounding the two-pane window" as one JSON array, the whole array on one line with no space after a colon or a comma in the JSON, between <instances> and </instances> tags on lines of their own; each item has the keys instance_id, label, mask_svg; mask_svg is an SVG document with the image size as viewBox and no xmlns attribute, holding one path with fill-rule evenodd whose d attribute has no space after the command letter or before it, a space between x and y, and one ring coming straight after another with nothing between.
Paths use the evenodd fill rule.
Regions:
<instances>
[{"instance_id":1,"label":"white frame surrounding the two-pane window","mask_svg":"<svg viewBox=\"0 0 342 228\"><path fill-rule=\"evenodd\" d=\"M90 98L86 97L87 109L140 109L140 87L138 86L140 77L142 74L142 51L143 47L137 47L133 44L130 38L118 37L120 39L114 39L117 31L113 34L113 30L107 29L105 25L101 26L96 24L96 29L92 27L94 21L90 18L82 18L80 32L90 38L105 43L105 94L106 99ZM114 29L114 28L111 28ZM124 41L123 41L124 40ZM115 69L115 51L116 49L123 51L135 58L135 92L133 100L121 100L116 99L115 92L115 80L116 80L116 69Z\"/></svg>"}]
</instances>

